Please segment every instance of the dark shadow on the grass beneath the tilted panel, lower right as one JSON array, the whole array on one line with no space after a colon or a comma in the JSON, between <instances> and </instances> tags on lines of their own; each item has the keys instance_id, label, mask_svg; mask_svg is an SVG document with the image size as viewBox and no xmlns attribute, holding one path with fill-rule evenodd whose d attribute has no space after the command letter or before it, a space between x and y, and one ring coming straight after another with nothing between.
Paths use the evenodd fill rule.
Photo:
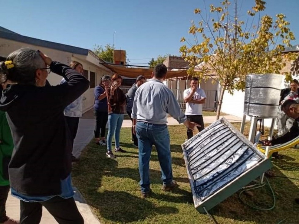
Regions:
<instances>
[{"instance_id":1,"label":"dark shadow on the grass beneath the tilted panel, lower right","mask_svg":"<svg viewBox=\"0 0 299 224\"><path fill-rule=\"evenodd\" d=\"M284 176L276 167L272 169L275 176ZM286 178L268 179L275 193L276 205L273 210L260 211L245 205L239 199L240 191L216 205L209 212L211 214L240 221L254 223L278 223L286 218L283 223L298 223L299 205L295 204L294 197L299 197L298 186ZM242 194L241 198L246 203L261 208L270 208L273 198L269 187L251 190L253 196Z\"/></svg>"}]
</instances>

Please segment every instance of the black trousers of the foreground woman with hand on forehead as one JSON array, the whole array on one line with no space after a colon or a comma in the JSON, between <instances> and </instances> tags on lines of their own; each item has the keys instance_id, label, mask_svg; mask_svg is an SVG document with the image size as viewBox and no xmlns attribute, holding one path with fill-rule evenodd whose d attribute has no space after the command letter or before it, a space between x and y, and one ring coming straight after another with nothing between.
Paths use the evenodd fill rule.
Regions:
<instances>
[{"instance_id":1,"label":"black trousers of the foreground woman with hand on forehead","mask_svg":"<svg viewBox=\"0 0 299 224\"><path fill-rule=\"evenodd\" d=\"M39 224L42 218L43 206L59 224L83 224L84 219L78 211L74 198L64 199L55 196L42 202L20 201L20 224Z\"/></svg>"}]
</instances>

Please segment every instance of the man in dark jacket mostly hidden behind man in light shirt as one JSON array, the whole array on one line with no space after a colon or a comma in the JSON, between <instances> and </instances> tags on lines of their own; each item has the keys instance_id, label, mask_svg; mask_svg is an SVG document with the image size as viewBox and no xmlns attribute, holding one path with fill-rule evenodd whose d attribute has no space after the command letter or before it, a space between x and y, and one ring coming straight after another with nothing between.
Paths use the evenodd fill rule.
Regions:
<instances>
[{"instance_id":1,"label":"man in dark jacket mostly hidden behind man in light shirt","mask_svg":"<svg viewBox=\"0 0 299 224\"><path fill-rule=\"evenodd\" d=\"M129 115L131 121L132 121L132 140L133 140L133 145L138 147L138 140L136 135L134 135L133 133L133 119L131 118L131 114L132 114L132 108L133 108L133 101L134 101L134 96L135 96L135 92L137 90L138 87L140 87L142 84L145 83L145 77L144 76L138 76L136 79L136 83L134 83L132 85L132 87L129 89L127 95L126 95L126 110L127 110L127 114Z\"/></svg>"}]
</instances>

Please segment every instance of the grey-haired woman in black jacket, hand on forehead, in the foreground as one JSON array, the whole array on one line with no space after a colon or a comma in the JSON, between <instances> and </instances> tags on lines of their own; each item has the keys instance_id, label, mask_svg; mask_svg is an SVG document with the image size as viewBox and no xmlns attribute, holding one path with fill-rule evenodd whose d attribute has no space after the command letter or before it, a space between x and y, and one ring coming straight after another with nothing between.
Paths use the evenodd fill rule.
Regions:
<instances>
[{"instance_id":1,"label":"grey-haired woman in black jacket, hand on forehead, in the foreground","mask_svg":"<svg viewBox=\"0 0 299 224\"><path fill-rule=\"evenodd\" d=\"M48 68L66 82L45 86ZM63 110L88 89L89 81L29 48L0 62L0 81L7 83L0 110L6 111L13 136L9 181L12 195L20 199L20 223L38 224L43 206L58 223L84 223L73 199L72 139Z\"/></svg>"}]
</instances>

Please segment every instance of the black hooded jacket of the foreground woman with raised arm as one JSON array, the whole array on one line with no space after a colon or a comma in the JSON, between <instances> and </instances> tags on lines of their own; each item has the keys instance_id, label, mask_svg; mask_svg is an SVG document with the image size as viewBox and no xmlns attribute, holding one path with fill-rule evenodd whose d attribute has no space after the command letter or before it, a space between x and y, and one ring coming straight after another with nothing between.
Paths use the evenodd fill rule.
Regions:
<instances>
[{"instance_id":1,"label":"black hooded jacket of the foreground woman with raised arm","mask_svg":"<svg viewBox=\"0 0 299 224\"><path fill-rule=\"evenodd\" d=\"M70 174L72 156L63 110L89 86L84 76L67 65L52 62L50 69L69 81L45 87L8 85L0 100L13 134L10 185L28 196L61 193L60 180Z\"/></svg>"}]
</instances>

